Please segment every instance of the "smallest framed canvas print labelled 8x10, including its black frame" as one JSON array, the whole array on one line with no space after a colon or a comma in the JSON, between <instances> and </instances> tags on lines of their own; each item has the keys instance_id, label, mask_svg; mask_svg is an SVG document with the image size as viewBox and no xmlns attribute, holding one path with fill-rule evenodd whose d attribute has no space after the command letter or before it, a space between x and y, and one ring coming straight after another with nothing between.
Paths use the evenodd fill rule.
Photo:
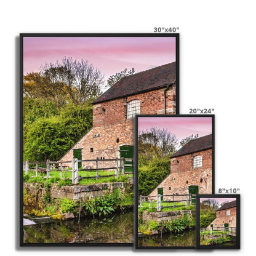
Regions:
<instances>
[{"instance_id":1,"label":"smallest framed canvas print labelled 8x10, including its black frame","mask_svg":"<svg viewBox=\"0 0 256 256\"><path fill-rule=\"evenodd\" d=\"M196 248L240 249L240 195L198 194Z\"/></svg>"}]
</instances>

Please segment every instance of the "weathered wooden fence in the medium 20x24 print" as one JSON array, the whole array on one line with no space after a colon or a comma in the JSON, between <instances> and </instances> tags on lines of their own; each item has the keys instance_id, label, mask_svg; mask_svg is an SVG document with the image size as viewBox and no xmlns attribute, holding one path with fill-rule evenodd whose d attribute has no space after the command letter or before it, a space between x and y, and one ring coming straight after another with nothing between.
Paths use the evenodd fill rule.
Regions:
<instances>
[{"instance_id":1,"label":"weathered wooden fence in the medium 20x24 print","mask_svg":"<svg viewBox=\"0 0 256 256\"><path fill-rule=\"evenodd\" d=\"M164 199L164 197L168 197ZM143 202L148 202L148 207L156 208L158 212L161 212L161 209L163 208L175 208L180 206L186 206L188 207L189 204L195 204L195 202L192 202L192 197L195 196L195 194L157 194L156 196L142 196L140 195L140 201L139 201L139 207L142 207ZM177 198L175 200L175 198ZM184 199L182 199L184 198ZM175 202L185 202L183 205L175 206ZM162 203L170 203L171 206L162 206ZM156 207L154 207L156 205Z\"/></svg>"}]
</instances>

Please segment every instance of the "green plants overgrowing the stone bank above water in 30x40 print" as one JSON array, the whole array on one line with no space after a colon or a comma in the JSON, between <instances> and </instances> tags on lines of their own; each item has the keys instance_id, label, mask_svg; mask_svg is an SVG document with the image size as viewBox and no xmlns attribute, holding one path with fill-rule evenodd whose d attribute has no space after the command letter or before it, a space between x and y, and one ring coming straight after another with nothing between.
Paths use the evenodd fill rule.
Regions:
<instances>
[{"instance_id":1,"label":"green plants overgrowing the stone bank above water in 30x40 print","mask_svg":"<svg viewBox=\"0 0 256 256\"><path fill-rule=\"evenodd\" d=\"M61 220L63 218L61 214L73 212L75 216L78 216L80 209L82 216L106 216L116 210L126 211L134 203L131 188L127 188L126 192L116 188L113 193L106 193L97 198L81 198L74 201L68 198L54 200L50 193L45 192L45 185L46 183L40 183L38 189L30 191L30 193L27 190L24 191L24 213L35 216L52 216L54 219Z\"/></svg>"}]
</instances>

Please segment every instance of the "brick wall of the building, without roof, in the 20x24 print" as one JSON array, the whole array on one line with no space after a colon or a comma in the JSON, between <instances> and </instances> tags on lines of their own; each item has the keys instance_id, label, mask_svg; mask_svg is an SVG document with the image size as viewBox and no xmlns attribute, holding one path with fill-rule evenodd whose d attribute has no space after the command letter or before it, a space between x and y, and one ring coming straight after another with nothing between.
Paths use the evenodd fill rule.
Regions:
<instances>
[{"instance_id":1,"label":"brick wall of the building, without roof, in the 20x24 print","mask_svg":"<svg viewBox=\"0 0 256 256\"><path fill-rule=\"evenodd\" d=\"M191 185L198 186L199 194L211 194L212 150L200 151L193 154L193 156L197 155L202 156L202 167L198 168L193 168L191 154L172 158L170 162L170 175L149 195L156 196L158 188L164 188L164 194L187 194L188 187Z\"/></svg>"}]
</instances>

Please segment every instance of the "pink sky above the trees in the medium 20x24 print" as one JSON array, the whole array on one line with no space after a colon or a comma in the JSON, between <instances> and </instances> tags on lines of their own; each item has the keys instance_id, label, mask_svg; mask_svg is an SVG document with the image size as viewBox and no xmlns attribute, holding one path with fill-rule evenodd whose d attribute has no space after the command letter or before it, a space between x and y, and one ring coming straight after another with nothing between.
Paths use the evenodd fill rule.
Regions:
<instances>
[{"instance_id":1,"label":"pink sky above the trees in the medium 20x24 print","mask_svg":"<svg viewBox=\"0 0 256 256\"><path fill-rule=\"evenodd\" d=\"M199 137L212 134L212 118L207 117L139 117L138 132L150 127L167 129L178 138L178 142L191 134Z\"/></svg>"}]
</instances>

